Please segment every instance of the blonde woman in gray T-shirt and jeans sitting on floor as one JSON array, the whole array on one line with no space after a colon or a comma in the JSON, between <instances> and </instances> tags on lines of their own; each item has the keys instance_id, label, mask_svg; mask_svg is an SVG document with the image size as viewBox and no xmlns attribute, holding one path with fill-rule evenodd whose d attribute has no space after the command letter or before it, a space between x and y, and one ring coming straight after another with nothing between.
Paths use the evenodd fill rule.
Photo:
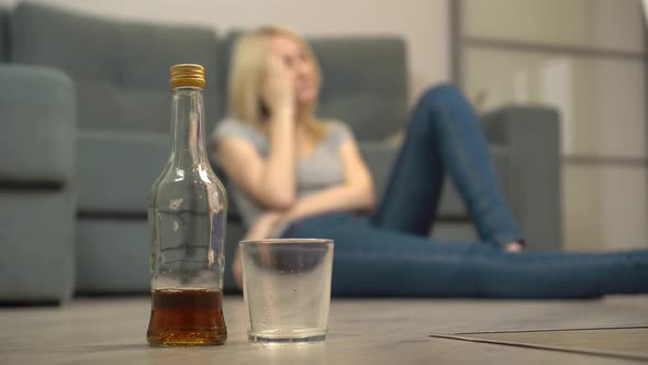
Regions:
<instances>
[{"instance_id":1,"label":"blonde woman in gray T-shirt and jeans sitting on floor","mask_svg":"<svg viewBox=\"0 0 648 365\"><path fill-rule=\"evenodd\" d=\"M526 253L482 131L454 86L414 108L387 191L375 201L351 131L314 114L321 75L302 37L268 25L232 58L219 164L235 186L247 240L335 240L334 295L573 298L648 291L648 251ZM427 234L448 174L480 242ZM233 270L241 283L235 255Z\"/></svg>"}]
</instances>

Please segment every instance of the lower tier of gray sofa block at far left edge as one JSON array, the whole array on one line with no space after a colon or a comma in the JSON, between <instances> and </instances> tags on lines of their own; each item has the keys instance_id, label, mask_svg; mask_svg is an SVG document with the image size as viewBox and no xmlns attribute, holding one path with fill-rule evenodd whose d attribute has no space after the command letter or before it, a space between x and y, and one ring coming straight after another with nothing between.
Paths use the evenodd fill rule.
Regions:
<instances>
[{"instance_id":1,"label":"lower tier of gray sofa block at far left edge","mask_svg":"<svg viewBox=\"0 0 648 365\"><path fill-rule=\"evenodd\" d=\"M72 191L0 190L0 302L65 302L74 285Z\"/></svg>"}]
</instances>

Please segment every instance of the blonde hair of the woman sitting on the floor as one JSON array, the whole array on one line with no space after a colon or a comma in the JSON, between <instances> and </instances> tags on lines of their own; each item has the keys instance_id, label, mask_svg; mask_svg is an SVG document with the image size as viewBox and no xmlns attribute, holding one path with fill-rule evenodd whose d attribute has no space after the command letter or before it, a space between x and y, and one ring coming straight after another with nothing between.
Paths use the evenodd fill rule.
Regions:
<instances>
[{"instance_id":1,"label":"blonde hair of the woman sitting on the floor","mask_svg":"<svg viewBox=\"0 0 648 365\"><path fill-rule=\"evenodd\" d=\"M265 114L261 108L260 88L265 68L266 49L275 36L284 36L299 43L313 64L315 87L320 88L322 74L309 44L292 29L284 25L264 25L238 37L230 63L228 110L227 114L236 120L249 123L267 133L264 123ZM324 125L314 115L316 101L311 101L303 110L306 132L315 141L324 136Z\"/></svg>"}]
</instances>

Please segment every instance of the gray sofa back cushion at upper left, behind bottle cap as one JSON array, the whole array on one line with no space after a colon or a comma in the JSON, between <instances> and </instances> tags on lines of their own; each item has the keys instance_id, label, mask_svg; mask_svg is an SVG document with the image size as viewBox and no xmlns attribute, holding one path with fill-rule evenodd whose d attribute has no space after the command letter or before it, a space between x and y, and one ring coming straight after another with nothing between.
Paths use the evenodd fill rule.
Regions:
<instances>
[{"instance_id":1,"label":"gray sofa back cushion at upper left, behind bottle cap","mask_svg":"<svg viewBox=\"0 0 648 365\"><path fill-rule=\"evenodd\" d=\"M210 29L107 20L21 1L11 42L13 62L71 76L82 130L168 132L169 67L178 63L205 66L206 114L210 121L217 115L219 52Z\"/></svg>"}]
</instances>

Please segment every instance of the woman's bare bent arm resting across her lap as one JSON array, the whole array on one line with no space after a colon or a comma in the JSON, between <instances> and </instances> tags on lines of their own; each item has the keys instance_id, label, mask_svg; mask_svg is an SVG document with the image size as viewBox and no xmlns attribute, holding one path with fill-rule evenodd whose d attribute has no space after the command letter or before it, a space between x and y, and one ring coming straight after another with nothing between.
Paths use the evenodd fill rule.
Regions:
<instances>
[{"instance_id":1,"label":"woman's bare bent arm resting across her lap","mask_svg":"<svg viewBox=\"0 0 648 365\"><path fill-rule=\"evenodd\" d=\"M344 168L344 182L299 199L283 215L283 220L291 221L335 210L373 209L373 181L356 142L353 139L346 140L338 153Z\"/></svg>"}]
</instances>

